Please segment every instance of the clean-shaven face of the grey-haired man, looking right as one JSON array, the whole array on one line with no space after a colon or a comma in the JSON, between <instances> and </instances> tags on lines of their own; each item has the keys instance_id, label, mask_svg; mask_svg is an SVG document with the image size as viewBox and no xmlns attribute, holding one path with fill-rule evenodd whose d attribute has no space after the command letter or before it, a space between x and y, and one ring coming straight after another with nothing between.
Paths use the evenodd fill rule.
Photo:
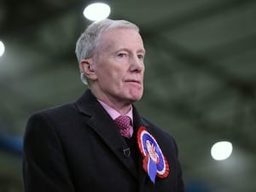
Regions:
<instances>
[{"instance_id":1,"label":"clean-shaven face of the grey-haired man, looking right","mask_svg":"<svg viewBox=\"0 0 256 192\"><path fill-rule=\"evenodd\" d=\"M93 57L96 95L103 102L131 104L143 96L143 39L134 29L103 32Z\"/></svg>"}]
</instances>

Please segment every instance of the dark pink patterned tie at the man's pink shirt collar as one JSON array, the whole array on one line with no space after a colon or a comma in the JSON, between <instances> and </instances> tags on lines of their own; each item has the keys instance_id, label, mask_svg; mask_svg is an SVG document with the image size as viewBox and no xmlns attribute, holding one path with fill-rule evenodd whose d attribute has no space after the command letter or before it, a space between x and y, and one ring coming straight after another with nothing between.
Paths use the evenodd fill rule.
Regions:
<instances>
[{"instance_id":1,"label":"dark pink patterned tie at the man's pink shirt collar","mask_svg":"<svg viewBox=\"0 0 256 192\"><path fill-rule=\"evenodd\" d=\"M126 115L120 115L117 119L114 119L114 122L119 127L119 131L123 137L131 137L130 125L131 118Z\"/></svg>"}]
</instances>

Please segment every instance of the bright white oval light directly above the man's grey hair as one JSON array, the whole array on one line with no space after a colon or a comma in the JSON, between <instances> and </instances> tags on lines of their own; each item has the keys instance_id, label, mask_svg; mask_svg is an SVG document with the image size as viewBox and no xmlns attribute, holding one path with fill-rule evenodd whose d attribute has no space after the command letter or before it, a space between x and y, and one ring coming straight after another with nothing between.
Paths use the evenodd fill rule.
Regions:
<instances>
[{"instance_id":1,"label":"bright white oval light directly above the man's grey hair","mask_svg":"<svg viewBox=\"0 0 256 192\"><path fill-rule=\"evenodd\" d=\"M88 20L104 20L110 14L110 7L106 3L91 3L83 14Z\"/></svg>"}]
</instances>

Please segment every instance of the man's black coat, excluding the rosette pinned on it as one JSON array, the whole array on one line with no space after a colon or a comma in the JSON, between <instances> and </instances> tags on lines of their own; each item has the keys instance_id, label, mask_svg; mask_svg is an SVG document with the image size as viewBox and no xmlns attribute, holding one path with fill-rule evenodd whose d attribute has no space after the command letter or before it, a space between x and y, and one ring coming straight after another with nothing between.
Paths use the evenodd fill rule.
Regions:
<instances>
[{"instance_id":1,"label":"man's black coat, excluding the rosette pinned on it","mask_svg":"<svg viewBox=\"0 0 256 192\"><path fill-rule=\"evenodd\" d=\"M24 137L25 191L183 192L174 139L143 119L134 106L133 119L135 136L128 141L90 90L77 102L33 114ZM136 131L141 125L154 136L170 166L168 177L157 177L154 184L138 152ZM124 154L125 148L131 148L131 155Z\"/></svg>"}]
</instances>

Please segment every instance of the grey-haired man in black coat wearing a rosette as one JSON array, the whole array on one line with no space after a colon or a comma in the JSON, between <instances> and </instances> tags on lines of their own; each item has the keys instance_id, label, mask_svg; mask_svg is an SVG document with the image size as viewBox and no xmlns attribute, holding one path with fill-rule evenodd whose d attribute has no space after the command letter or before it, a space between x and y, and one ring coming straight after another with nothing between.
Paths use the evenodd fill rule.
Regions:
<instances>
[{"instance_id":1,"label":"grey-haired man in black coat wearing a rosette","mask_svg":"<svg viewBox=\"0 0 256 192\"><path fill-rule=\"evenodd\" d=\"M126 20L94 22L76 54L89 89L77 102L28 120L26 192L183 192L174 139L133 105L143 96L145 69L138 27Z\"/></svg>"}]
</instances>

